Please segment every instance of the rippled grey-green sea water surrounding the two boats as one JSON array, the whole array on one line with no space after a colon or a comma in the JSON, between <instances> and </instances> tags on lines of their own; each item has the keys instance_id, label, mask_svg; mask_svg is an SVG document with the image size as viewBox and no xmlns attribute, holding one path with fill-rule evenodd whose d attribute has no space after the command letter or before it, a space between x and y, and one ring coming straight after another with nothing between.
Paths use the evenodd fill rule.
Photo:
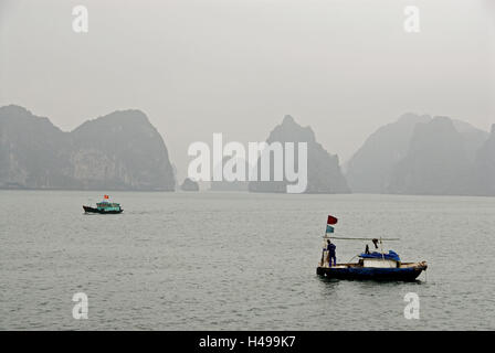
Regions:
<instances>
[{"instance_id":1,"label":"rippled grey-green sea water surrounding the two boats","mask_svg":"<svg viewBox=\"0 0 495 353\"><path fill-rule=\"evenodd\" d=\"M0 329L495 329L495 199L0 191ZM328 213L340 236L400 237L413 284L315 275ZM364 249L337 242L337 259ZM74 320L72 296L89 298ZM420 320L403 315L420 296Z\"/></svg>"}]
</instances>

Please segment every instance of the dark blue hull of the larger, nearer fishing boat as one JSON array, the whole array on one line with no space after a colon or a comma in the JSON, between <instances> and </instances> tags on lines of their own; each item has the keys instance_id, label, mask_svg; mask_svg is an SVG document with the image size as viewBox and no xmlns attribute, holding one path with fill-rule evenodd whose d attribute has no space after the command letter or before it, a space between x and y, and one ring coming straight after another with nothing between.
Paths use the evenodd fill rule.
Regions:
<instances>
[{"instance_id":1,"label":"dark blue hull of the larger, nearer fishing boat","mask_svg":"<svg viewBox=\"0 0 495 353\"><path fill-rule=\"evenodd\" d=\"M426 267L423 263L398 268L337 265L336 267L317 267L316 274L329 279L413 281Z\"/></svg>"}]
</instances>

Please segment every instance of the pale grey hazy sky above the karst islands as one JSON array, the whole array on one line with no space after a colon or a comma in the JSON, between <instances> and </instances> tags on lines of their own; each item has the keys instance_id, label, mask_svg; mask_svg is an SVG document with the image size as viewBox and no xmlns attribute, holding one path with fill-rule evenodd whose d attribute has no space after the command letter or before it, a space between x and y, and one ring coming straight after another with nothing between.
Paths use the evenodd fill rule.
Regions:
<instances>
[{"instance_id":1,"label":"pale grey hazy sky above the karst islands","mask_svg":"<svg viewBox=\"0 0 495 353\"><path fill-rule=\"evenodd\" d=\"M193 141L291 114L346 161L406 111L495 122L493 0L0 0L0 105L63 130L144 110L183 178ZM72 30L86 6L89 32ZM420 9L406 33L404 8Z\"/></svg>"}]
</instances>

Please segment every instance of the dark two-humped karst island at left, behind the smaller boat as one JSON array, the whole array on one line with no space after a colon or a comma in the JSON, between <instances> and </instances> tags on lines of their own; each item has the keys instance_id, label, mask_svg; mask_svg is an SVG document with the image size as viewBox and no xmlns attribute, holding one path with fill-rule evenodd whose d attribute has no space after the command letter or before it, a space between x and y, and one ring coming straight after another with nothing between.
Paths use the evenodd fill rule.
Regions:
<instances>
[{"instance_id":1,"label":"dark two-humped karst island at left, behind the smaller boat","mask_svg":"<svg viewBox=\"0 0 495 353\"><path fill-rule=\"evenodd\" d=\"M172 191L161 136L139 110L64 132L19 106L0 108L0 188Z\"/></svg>"}]
</instances>

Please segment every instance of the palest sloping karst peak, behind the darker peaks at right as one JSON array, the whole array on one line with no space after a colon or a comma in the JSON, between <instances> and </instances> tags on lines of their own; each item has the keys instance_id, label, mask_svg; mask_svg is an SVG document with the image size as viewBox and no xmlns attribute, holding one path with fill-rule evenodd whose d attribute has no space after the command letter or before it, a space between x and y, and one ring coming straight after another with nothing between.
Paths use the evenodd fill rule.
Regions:
<instances>
[{"instance_id":1,"label":"palest sloping karst peak, behind the darker peaks at right","mask_svg":"<svg viewBox=\"0 0 495 353\"><path fill-rule=\"evenodd\" d=\"M415 125L430 120L428 115L404 114L373 132L347 163L346 178L352 192L386 193L394 165L408 152Z\"/></svg>"}]
</instances>

